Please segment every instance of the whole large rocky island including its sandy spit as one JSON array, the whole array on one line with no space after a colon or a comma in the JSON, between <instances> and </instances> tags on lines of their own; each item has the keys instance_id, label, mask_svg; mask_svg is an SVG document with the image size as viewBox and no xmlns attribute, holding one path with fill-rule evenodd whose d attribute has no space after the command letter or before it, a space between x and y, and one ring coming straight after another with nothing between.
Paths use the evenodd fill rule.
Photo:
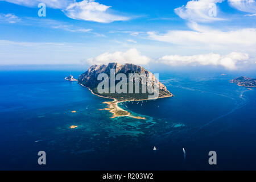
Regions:
<instances>
[{"instance_id":1,"label":"whole large rocky island including its sandy spit","mask_svg":"<svg viewBox=\"0 0 256 182\"><path fill-rule=\"evenodd\" d=\"M108 81L109 88L106 88L107 90L111 90L111 76L112 74L118 75L119 73L122 73L122 76L124 78L122 79L117 79L114 78L114 85L117 85L119 82L126 82L126 89L129 90L129 84L131 84L130 79L130 74L138 74L139 76L147 75L151 78L151 80L143 80L142 78L139 78L139 93L133 92L133 93L99 93L98 92L98 84L102 82L102 80L98 80L98 76L101 73L104 73L105 76L110 77ZM134 81L134 80L133 80ZM119 63L109 63L108 65L101 64L101 65L92 65L88 71L85 73L82 73L82 75L79 76L78 83L82 86L85 86L92 92L92 94L95 94L99 97L104 97L104 98L111 98L113 101L110 102L104 102L104 104L107 104L108 107L103 109L103 110L109 110L110 113L113 114L113 117L131 117L131 118L136 118L136 119L146 119L144 117L138 117L131 115L130 112L123 110L121 107L118 106L120 102L127 102L127 101L143 101L143 100L150 100L150 99L157 99L157 98L165 98L165 97L173 97L174 95L169 92L158 79L155 78L155 76L144 69L143 67L135 64L119 64ZM151 98L150 96L152 94L150 93L143 93L142 90L142 83L144 85L150 85L152 88L156 88L158 84L158 97L157 98ZM135 89L135 83L132 82L133 84L133 89ZM156 86L155 86L156 85ZM123 86L121 87L123 89Z\"/></svg>"}]
</instances>

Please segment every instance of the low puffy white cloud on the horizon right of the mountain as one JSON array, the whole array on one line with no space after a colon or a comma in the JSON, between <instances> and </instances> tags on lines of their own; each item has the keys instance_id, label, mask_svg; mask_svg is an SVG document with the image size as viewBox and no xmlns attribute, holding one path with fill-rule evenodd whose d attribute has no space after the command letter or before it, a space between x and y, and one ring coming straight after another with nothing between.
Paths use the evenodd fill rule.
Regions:
<instances>
[{"instance_id":1,"label":"low puffy white cloud on the horizon right of the mountain","mask_svg":"<svg viewBox=\"0 0 256 182\"><path fill-rule=\"evenodd\" d=\"M167 55L161 57L158 62L172 66L213 65L222 66L226 69L237 69L241 64L248 63L248 60L249 55L246 53L232 52L228 55L219 55L216 53L193 56Z\"/></svg>"}]
</instances>

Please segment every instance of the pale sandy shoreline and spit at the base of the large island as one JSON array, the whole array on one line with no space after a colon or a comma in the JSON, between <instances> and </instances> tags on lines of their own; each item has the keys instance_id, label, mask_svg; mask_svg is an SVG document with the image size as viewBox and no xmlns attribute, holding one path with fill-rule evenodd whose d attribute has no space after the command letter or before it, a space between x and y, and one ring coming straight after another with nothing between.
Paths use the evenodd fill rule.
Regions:
<instances>
[{"instance_id":1,"label":"pale sandy shoreline and spit at the base of the large island","mask_svg":"<svg viewBox=\"0 0 256 182\"><path fill-rule=\"evenodd\" d=\"M79 83L80 84L80 83ZM143 99L143 100L124 100L124 101L118 101L117 99L115 98L110 98L110 97L104 97L104 96L100 96L96 93L94 93L92 91L92 89L88 88L87 86L85 85L82 85L80 84L81 86L84 86L85 88L89 89L90 92L98 97L102 97L102 98L108 98L108 99L113 99L113 101L105 101L103 102L103 104L107 104L108 107L107 108L104 108L104 109L100 109L100 110L108 110L110 113L113 114L112 117L110 118L116 118L116 117L131 117L131 118L135 118L135 119L146 119L144 117L139 117L139 116L134 116L134 115L131 115L131 113L129 111L126 111L124 109L122 109L121 107L118 106L119 103L122 103L122 102L136 102L136 101L147 101L147 100L156 100L158 98L167 98L167 97L174 97L174 95L171 95L171 96L164 96L164 97L158 97L156 99L153 99L153 98L148 98L148 99Z\"/></svg>"}]
</instances>

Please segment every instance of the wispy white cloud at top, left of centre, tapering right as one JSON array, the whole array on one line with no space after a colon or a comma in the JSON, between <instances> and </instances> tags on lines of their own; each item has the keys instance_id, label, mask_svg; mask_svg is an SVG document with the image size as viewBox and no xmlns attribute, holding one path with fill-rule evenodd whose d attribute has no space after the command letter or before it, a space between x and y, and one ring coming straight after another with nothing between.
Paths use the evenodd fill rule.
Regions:
<instances>
[{"instance_id":1,"label":"wispy white cloud at top, left of centre, tapering right","mask_svg":"<svg viewBox=\"0 0 256 182\"><path fill-rule=\"evenodd\" d=\"M125 16L107 13L111 6L102 5L94 0L84 0L71 3L63 12L69 18L88 20L100 23L110 23L114 21L129 20Z\"/></svg>"}]
</instances>

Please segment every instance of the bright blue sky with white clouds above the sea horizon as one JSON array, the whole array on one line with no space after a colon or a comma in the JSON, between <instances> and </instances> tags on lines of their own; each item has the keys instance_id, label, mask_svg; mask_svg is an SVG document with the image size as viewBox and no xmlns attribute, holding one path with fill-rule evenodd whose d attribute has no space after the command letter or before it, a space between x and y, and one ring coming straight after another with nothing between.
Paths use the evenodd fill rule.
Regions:
<instances>
[{"instance_id":1,"label":"bright blue sky with white clouds above the sea horizon","mask_svg":"<svg viewBox=\"0 0 256 182\"><path fill-rule=\"evenodd\" d=\"M254 0L1 0L0 64L251 69L255 20Z\"/></svg>"}]
</instances>

